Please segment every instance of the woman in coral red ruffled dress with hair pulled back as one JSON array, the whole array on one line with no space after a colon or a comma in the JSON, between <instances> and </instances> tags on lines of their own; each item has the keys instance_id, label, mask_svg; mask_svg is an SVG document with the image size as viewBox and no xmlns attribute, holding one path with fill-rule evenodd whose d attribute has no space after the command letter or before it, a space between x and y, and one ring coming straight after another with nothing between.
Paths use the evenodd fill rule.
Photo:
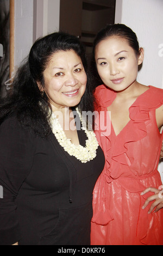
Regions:
<instances>
[{"instance_id":1,"label":"woman in coral red ruffled dress with hair pulled back","mask_svg":"<svg viewBox=\"0 0 163 256\"><path fill-rule=\"evenodd\" d=\"M94 53L103 81L96 110L111 112L111 132L96 131L106 162L93 192L91 244L163 245L163 90L136 81L144 51L127 26L102 29Z\"/></svg>"}]
</instances>

